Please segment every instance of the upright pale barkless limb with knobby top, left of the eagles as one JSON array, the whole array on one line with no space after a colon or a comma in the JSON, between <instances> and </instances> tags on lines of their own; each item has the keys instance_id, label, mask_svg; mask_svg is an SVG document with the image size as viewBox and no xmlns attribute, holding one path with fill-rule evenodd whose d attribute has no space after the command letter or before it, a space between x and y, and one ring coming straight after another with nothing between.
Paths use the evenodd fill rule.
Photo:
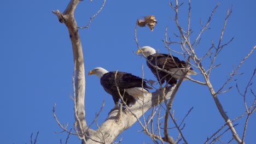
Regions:
<instances>
[{"instance_id":1,"label":"upright pale barkless limb with knobby top, left of the eagles","mask_svg":"<svg viewBox=\"0 0 256 144\"><path fill-rule=\"evenodd\" d=\"M74 10L77 7L79 1L72 0L69 2L64 13L60 13L59 10L53 11L59 18L60 22L65 23L68 28L69 37L72 43L73 58L74 58L74 98L75 98L75 119L79 135L84 134L84 130L87 129L85 121L84 110L84 97L85 97L85 74L84 74L84 57L83 49L80 41L77 22L74 19Z\"/></svg>"}]
</instances>

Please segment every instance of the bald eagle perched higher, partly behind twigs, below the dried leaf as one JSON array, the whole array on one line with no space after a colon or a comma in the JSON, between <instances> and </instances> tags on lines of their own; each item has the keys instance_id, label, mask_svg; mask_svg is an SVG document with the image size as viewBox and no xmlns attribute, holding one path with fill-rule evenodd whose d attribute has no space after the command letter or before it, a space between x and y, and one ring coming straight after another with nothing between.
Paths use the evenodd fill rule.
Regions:
<instances>
[{"instance_id":1,"label":"bald eagle perched higher, partly behind twigs, below the dried leaf","mask_svg":"<svg viewBox=\"0 0 256 144\"><path fill-rule=\"evenodd\" d=\"M138 53L143 53L143 55L148 59L147 65L152 73L156 76L160 84L164 82L168 83L169 85L176 84L177 79L180 79L186 72L186 62L179 60L179 58L174 57L171 54L167 55L165 53L156 53L155 49L150 46L141 47L141 49L137 51L137 54ZM166 73L155 66L169 71L171 74ZM193 71L193 68L188 67L186 77L189 77L191 74L196 75L196 72Z\"/></svg>"}]
</instances>

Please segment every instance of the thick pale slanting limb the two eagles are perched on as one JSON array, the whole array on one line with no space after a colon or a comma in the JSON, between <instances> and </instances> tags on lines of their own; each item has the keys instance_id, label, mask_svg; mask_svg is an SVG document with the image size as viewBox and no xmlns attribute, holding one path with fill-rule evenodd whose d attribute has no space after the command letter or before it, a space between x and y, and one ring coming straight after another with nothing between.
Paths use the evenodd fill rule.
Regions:
<instances>
[{"instance_id":1,"label":"thick pale slanting limb the two eagles are perched on","mask_svg":"<svg viewBox=\"0 0 256 144\"><path fill-rule=\"evenodd\" d=\"M168 89L166 99L170 99L174 88L176 88L176 85ZM123 112L121 121L117 121L118 110L111 112L101 127L96 130L96 135L88 139L86 143L97 143L95 140L102 143L112 143L119 134L130 128L137 121L137 118L141 117L151 107L162 103L164 101L162 95L162 91L153 92L149 97L144 97L144 105L139 100L140 102L138 101L135 105L132 105L129 110L126 110L127 112Z\"/></svg>"}]
</instances>

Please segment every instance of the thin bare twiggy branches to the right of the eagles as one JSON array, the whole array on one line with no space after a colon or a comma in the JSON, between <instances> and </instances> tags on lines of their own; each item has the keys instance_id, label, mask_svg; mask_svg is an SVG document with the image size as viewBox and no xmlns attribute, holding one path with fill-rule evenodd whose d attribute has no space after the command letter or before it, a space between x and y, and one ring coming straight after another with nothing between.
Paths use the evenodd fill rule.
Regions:
<instances>
[{"instance_id":1,"label":"thin bare twiggy branches to the right of the eagles","mask_svg":"<svg viewBox=\"0 0 256 144\"><path fill-rule=\"evenodd\" d=\"M220 141L220 137L223 136L224 133L226 133L226 131L230 131L231 134L232 134L232 137L230 137L230 141L227 141L228 143L231 142L232 140L235 140L237 143L245 143L245 133L246 133L246 128L247 128L247 124L248 124L248 119L249 117L251 116L251 114L253 112L255 112L256 110L256 97L255 97L255 94L253 92L253 90L251 89L251 93L248 94L247 91L249 89L249 87L252 86L252 79L253 77L255 76L255 70L256 68L254 68L254 72L252 74L252 77L251 79L249 80L248 82L248 85L245 89L245 92L243 93L240 93L239 90L238 92L240 93L240 95L242 95L242 97L244 98L243 100L243 103L245 104L245 113L241 113L241 114L237 114L237 118L235 119L230 119L229 116L226 114L224 108L223 108L223 105L218 96L220 94L223 94L225 92L228 92L231 87L226 87L226 85L234 80L234 76L238 75L237 71L238 69L240 69L241 65L246 61L246 59L252 55L253 51L256 49L256 46L252 47L251 51L248 52L248 54L241 60L241 62L237 65L237 67L231 71L231 73L229 74L229 77L228 79L223 83L223 85L220 86L219 89L214 89L213 86L212 86L212 83L211 83L211 80L210 80L210 74L211 72L217 68L220 64L216 64L215 60L216 58L219 56L219 53L222 52L222 50L224 49L224 47L228 46L229 43L231 43L231 41L234 39L234 38L231 38L229 41L227 41L226 43L223 42L223 34L225 32L225 28L226 28L226 23L232 13L232 8L229 9L226 13L226 17L225 17L225 20L224 20L224 23L223 23L223 28L220 30L220 37L219 37L219 40L218 40L218 43L215 44L211 43L211 47L206 50L206 53L205 55L199 55L197 54L197 50L200 49L200 42L201 42L201 35L202 33L204 33L205 31L207 31L208 28L208 25L210 24L210 22L212 21L212 17L215 13L215 11L217 10L218 8L218 4L216 5L216 7L212 10L212 13L210 14L208 20L206 21L206 24L203 25L202 22L200 23L201 24L201 31L199 31L196 35L196 38L193 40L191 38L191 35L192 35L192 29L190 28L190 18L191 18L191 3L190 3L190 0L188 1L188 25L187 25L187 28L183 28L182 25L179 23L180 21L180 18L179 18L179 8L181 7L184 7L184 2L182 3L179 3L178 0L174 1L174 3L170 2L170 8L174 11L174 23L176 23L176 28L178 29L178 33L173 33L174 34L174 38L177 38L178 40L172 40L171 37L168 36L168 28L166 27L166 33L165 33L165 40L164 41L164 44L165 44L165 47L167 48L168 52L170 53L170 55L172 53L178 53L179 55L182 55L184 56L185 59L187 59L187 64L189 65L193 65L193 68L194 69L197 69L197 71L199 71L199 74L203 77L203 81L197 81L197 80L194 80L194 79L190 79L189 77L187 77L187 79L189 79L190 81L193 81L195 83L195 85L205 85L207 88L208 88L208 91L210 91L211 93L211 96L213 98L213 101L214 103L216 104L216 107L220 113L220 116L223 118L224 120L224 125L222 125L222 127L220 127L220 129L218 131L216 131L216 133L214 133L211 137L209 137L205 143L213 143L213 142L216 142L216 141ZM172 28L173 29L173 28ZM136 39L136 43L137 43L137 46L138 46L138 49L141 50L141 48L139 47L139 43L138 43L138 40L137 40L137 28L135 28L135 39ZM174 47L173 45L177 46L178 47L181 47L181 49L179 51L176 51L176 50L173 50L171 49L171 46ZM143 55L144 56L144 55ZM210 64L205 66L202 64L202 62L209 58L210 59ZM161 68L158 68L156 67L156 69L159 69L159 70L163 70ZM164 70L163 70L164 71ZM167 71L166 71L167 72ZM171 73L170 73L171 74ZM182 82L181 80L179 80L179 82L177 83L177 87L179 87L179 85L181 84L180 82ZM176 88L177 88L176 87ZM237 88L238 89L238 88ZM172 101L173 101L173 98L174 98L175 94L173 93L173 97L171 97L170 100L165 100L165 115L164 115L164 120L160 120L160 117L158 117L158 119L156 120L156 123L157 123L157 127L156 127L156 131L159 132L158 136L161 135L161 133L164 134L164 136L162 137L162 139L159 139L162 143L164 143L164 141L168 142L168 143L177 143L179 141L183 141L184 143L188 143L187 140L185 139L183 133L182 133L182 130L184 128L184 125L183 125L183 122L184 122L184 119L189 115L190 111L193 109L191 108L189 111L188 111L188 114L183 118L182 122L181 123L177 123L176 122L176 119L174 118L174 113L171 113L170 110L172 108ZM246 101L246 97L254 97L254 101L252 103L250 103L250 105L248 105L248 101ZM236 128L233 123L245 116L245 114L247 115L247 118L246 118L246 122L244 124L244 130L243 130L243 133L238 135L237 131L236 131ZM241 116L239 116L241 115ZM170 128L168 128L168 119L171 118L172 119L172 122L174 124L174 128L176 128L178 130L178 137L176 138L175 141L168 141L168 137L170 137L170 134L169 134L169 130ZM164 128L160 129L160 124L161 123L164 123ZM151 128L150 128L151 127ZM149 125L149 128L148 129L154 129L152 128L153 126L152 125ZM223 130L224 127L228 127L226 130ZM153 133L153 131L151 131ZM161 137L161 136L160 136ZM154 137L151 137L153 141L155 141L155 138ZM158 142L155 142L155 143L158 143ZM225 142L224 142L225 143Z\"/></svg>"}]
</instances>

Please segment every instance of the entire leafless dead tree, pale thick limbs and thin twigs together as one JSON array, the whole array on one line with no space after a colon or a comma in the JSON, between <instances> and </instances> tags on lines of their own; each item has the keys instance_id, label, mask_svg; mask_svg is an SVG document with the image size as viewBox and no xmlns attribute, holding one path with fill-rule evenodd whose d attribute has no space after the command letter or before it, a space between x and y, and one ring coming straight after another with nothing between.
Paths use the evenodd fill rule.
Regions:
<instances>
[{"instance_id":1,"label":"entire leafless dead tree, pale thick limbs and thin twigs together","mask_svg":"<svg viewBox=\"0 0 256 144\"><path fill-rule=\"evenodd\" d=\"M101 9L104 7L104 2L102 4ZM164 142L177 143L178 141L181 141L181 140L184 143L188 143L182 134L183 128L181 124L183 122L181 124L176 123L176 120L174 118L174 113L170 112L172 109L172 103L173 103L174 97L176 95L176 92L178 91L179 86L181 86L184 76L182 77L182 79L178 81L177 85L173 85L171 87L168 87L166 85L162 87L162 89L156 90L155 92L152 93L151 97L144 98L141 101L138 101L126 113L122 113L122 115L118 115L120 114L120 111L118 110L114 110L110 112L108 117L106 118L106 121L104 121L101 125L97 125L97 130L91 129L90 125L86 123L86 115L85 115L85 109L84 109L84 101L85 101L84 58L83 58L82 44L80 41L78 29L88 28L92 19L94 19L94 17L98 13L100 13L101 9L94 16L91 17L91 20L88 26L78 27L77 22L74 19L74 11L78 4L79 4L79 0L71 0L67 5L66 10L63 13L61 13L59 10L53 11L53 13L58 17L59 21L61 23L64 23L68 28L69 37L72 43L73 60L74 60L73 95L74 95L74 118L75 118L74 129L76 133L71 133L70 130L67 130L66 127L63 127L57 120L55 111L54 111L54 117L56 118L56 121L58 122L60 127L63 130L67 131L68 134L77 135L79 139L83 141L83 143L113 143L113 141L117 138L117 136L120 133L122 133L125 129L128 129L129 127L131 127L131 125L134 124L135 122L139 122L139 124L143 128L144 133L149 135L153 140L153 142L155 143L159 143L159 142L160 143L164 143ZM209 76L210 76L211 70L218 66L218 65L214 65L214 59L218 56L218 53L223 49L223 47L225 47L232 41L231 39L230 41L228 41L228 43L222 44L222 36L225 30L226 21L228 20L228 17L230 16L231 11L228 11L226 19L224 21L224 27L221 31L222 34L220 36L218 45L216 46L215 44L213 44L212 47L208 50L208 52L205 54L205 56L200 58L197 56L195 49L197 45L200 43L201 34L207 29L207 26L211 21L211 17L218 6L213 9L213 12L208 22L206 23L205 26L202 27L202 30L199 33L197 39L193 43L191 43L189 40L190 33L191 33L190 1L189 1L189 19L188 19L189 24L188 24L187 31L185 31L185 29L183 29L181 25L179 25L178 10L179 10L179 7L181 7L181 5L182 4L178 4L178 0L176 0L175 4L170 3L170 7L176 13L174 22L176 22L177 28L179 29L179 34L176 36L179 37L181 40L168 41L167 32L166 32L166 40L164 41L164 43L166 44L166 47L169 50L171 50L169 46L173 43L181 45L182 54L188 59L187 63L197 68L200 71L201 75L204 77L205 81L199 82L193 79L190 79L190 80L198 83L199 85L205 85L208 87L209 91L211 92L212 98L216 103L217 109L219 110L220 115L224 119L224 122L225 122L224 127L226 125L228 126L229 130L234 136L233 138L237 141L237 143L244 143L244 136L241 137L237 135L234 125L232 125L232 122L234 122L234 120L233 121L230 120L230 118L226 115L225 111L223 110L222 104L218 100L218 94L223 92L223 89L225 88L226 83L228 83L232 79L232 77L236 75L237 69L239 69L241 64L245 61L245 59L252 54L256 46L254 46L252 51L249 52L249 54L242 60L241 64L238 65L237 69L233 71L232 75L230 76L230 79L226 81L226 83L224 83L223 87L218 90L213 89ZM138 44L138 48L139 48L139 44ZM209 53L213 49L215 50L215 53L213 54L213 59L210 64L210 68L206 69L201 64L201 61L203 58L210 56ZM192 62L190 63L190 61ZM241 93L241 95L245 95L245 94ZM245 101L245 104L246 104L246 101ZM144 113L147 112L152 107L153 107L152 113L148 118L145 118ZM162 119L161 118L162 116L160 116L161 107L165 107L164 120L162 120L162 122L164 122L164 129L160 128L160 125L161 125L160 121ZM188 114L190 113L190 111L191 110L189 110ZM254 111L255 111L255 100L253 105L247 106L246 113L247 113L248 119L251 113L253 113ZM140 121L139 118L142 116L143 116L143 121ZM187 116L185 116L184 119L186 117ZM168 123L170 123L169 118L172 119L172 122L174 123L174 125L176 125L175 128L177 128L179 131L179 136L177 137L176 140L174 140L173 137L168 133ZM154 121L154 119L156 119L156 121ZM154 129L153 127L153 121L157 125L156 129ZM245 125L245 131L246 131L246 125ZM216 134L214 133L214 135ZM243 135L245 135L245 132Z\"/></svg>"}]
</instances>

